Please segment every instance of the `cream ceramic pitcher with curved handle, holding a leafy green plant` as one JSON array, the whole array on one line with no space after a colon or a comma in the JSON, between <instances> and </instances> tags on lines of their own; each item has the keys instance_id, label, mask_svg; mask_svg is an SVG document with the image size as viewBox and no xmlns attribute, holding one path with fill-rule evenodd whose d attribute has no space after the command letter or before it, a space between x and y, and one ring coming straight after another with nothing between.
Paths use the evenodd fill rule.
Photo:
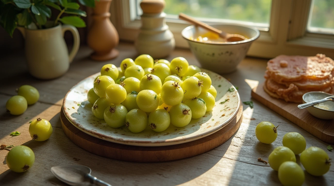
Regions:
<instances>
[{"instance_id":1,"label":"cream ceramic pitcher with curved handle, holding a leafy green plant","mask_svg":"<svg viewBox=\"0 0 334 186\"><path fill-rule=\"evenodd\" d=\"M80 36L71 25L60 25L47 29L18 27L25 38L25 56L30 74L39 79L53 79L65 74L76 55ZM73 48L68 54L64 32L73 34Z\"/></svg>"}]
</instances>

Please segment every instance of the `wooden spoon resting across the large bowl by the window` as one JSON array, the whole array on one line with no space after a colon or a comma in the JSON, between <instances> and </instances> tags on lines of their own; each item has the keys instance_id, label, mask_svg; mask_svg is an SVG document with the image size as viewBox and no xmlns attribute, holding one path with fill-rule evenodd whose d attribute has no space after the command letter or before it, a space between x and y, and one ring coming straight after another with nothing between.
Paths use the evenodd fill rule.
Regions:
<instances>
[{"instance_id":1,"label":"wooden spoon resting across the large bowl by the window","mask_svg":"<svg viewBox=\"0 0 334 186\"><path fill-rule=\"evenodd\" d=\"M213 32L213 33L216 33L219 35L219 37L225 39L227 42L237 42L237 41L243 41L243 40L246 40L247 38L245 38L244 36L240 35L240 34L229 34L229 33L226 33L226 32L223 32L221 30L218 30L216 28L213 28L212 26L206 24L206 23L203 23L201 21L198 21L184 13L180 13L179 14L179 19L182 19L182 20L185 20L185 21L188 21L196 26L200 26L210 32Z\"/></svg>"}]
</instances>

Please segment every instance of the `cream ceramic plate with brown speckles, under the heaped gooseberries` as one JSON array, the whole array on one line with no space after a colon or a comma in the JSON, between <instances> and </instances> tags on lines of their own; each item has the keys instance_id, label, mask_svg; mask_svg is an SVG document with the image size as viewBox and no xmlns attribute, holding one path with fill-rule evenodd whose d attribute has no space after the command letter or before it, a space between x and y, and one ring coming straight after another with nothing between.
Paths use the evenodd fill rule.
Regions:
<instances>
[{"instance_id":1,"label":"cream ceramic plate with brown speckles, under the heaped gooseberries","mask_svg":"<svg viewBox=\"0 0 334 186\"><path fill-rule=\"evenodd\" d=\"M102 119L92 113L92 104L87 101L87 92L93 88L94 74L73 86L65 95L63 110L66 118L79 130L114 143L135 146L167 146L194 141L208 136L226 126L239 110L240 97L236 90L230 92L233 85L214 72L204 70L217 90L216 104L212 111L199 119L192 119L185 127L170 125L163 132L154 132L146 128L143 132L132 133L125 126L109 127ZM224 102L225 100L228 100ZM220 104L220 102L224 102Z\"/></svg>"}]
</instances>

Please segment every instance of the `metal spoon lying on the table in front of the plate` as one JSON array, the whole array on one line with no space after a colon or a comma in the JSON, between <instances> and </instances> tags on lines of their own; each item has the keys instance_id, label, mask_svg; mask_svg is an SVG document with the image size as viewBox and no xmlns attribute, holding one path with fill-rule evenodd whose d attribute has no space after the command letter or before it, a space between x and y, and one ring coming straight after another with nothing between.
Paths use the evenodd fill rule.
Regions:
<instances>
[{"instance_id":1,"label":"metal spoon lying on the table in front of the plate","mask_svg":"<svg viewBox=\"0 0 334 186\"><path fill-rule=\"evenodd\" d=\"M78 185L89 181L98 186L111 186L91 175L92 170L83 165L65 165L51 167L52 174L68 185Z\"/></svg>"}]
</instances>

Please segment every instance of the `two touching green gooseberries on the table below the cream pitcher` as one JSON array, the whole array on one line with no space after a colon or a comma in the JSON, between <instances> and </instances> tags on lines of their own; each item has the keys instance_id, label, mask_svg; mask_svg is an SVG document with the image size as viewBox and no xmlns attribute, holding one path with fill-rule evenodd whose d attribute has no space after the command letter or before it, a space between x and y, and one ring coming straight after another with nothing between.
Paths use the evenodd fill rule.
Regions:
<instances>
[{"instance_id":1,"label":"two touching green gooseberries on the table below the cream pitcher","mask_svg":"<svg viewBox=\"0 0 334 186\"><path fill-rule=\"evenodd\" d=\"M17 95L8 99L6 110L12 115L23 114L28 105L35 104L39 99L38 90L30 85L22 85L16 89Z\"/></svg>"}]
</instances>

